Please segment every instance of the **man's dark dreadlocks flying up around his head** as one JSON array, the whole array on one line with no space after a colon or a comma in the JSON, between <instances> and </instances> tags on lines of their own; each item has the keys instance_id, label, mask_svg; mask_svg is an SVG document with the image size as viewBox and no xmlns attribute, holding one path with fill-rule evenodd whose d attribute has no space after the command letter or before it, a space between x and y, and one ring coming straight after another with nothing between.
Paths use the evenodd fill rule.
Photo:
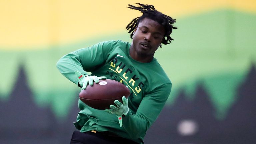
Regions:
<instances>
[{"instance_id":1,"label":"man's dark dreadlocks flying up around his head","mask_svg":"<svg viewBox=\"0 0 256 144\"><path fill-rule=\"evenodd\" d=\"M144 5L144 4L140 4L140 3L136 3L139 6L133 6L128 4L129 6L127 8L130 9L134 9L134 10L138 10L140 12L142 12L142 16L140 17L136 17L135 19L133 19L127 26L126 29L129 30L128 33L131 33L131 38L133 36L133 32L136 26L138 26L138 24L140 23L140 21L142 21L144 18L149 18L152 19L154 21L157 21L159 24L161 24L164 28L165 28L165 35L162 41L162 44L170 44L168 43L171 42L171 40L173 40L170 36L170 34L172 33L172 29L177 29L177 27L174 27L172 24L174 24L176 22L176 19L172 19L170 16L167 16L159 11L157 11L155 9L155 7L153 5ZM165 39L166 37L166 39ZM160 45L160 47L162 47L162 45Z\"/></svg>"}]
</instances>

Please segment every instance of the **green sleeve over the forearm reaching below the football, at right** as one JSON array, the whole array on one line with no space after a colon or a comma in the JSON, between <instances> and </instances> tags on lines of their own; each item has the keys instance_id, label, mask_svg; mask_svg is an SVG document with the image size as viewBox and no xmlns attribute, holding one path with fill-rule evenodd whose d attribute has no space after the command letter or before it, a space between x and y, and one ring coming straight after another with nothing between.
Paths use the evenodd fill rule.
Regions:
<instances>
[{"instance_id":1,"label":"green sleeve over the forearm reaching below the football, at right","mask_svg":"<svg viewBox=\"0 0 256 144\"><path fill-rule=\"evenodd\" d=\"M172 84L160 86L154 92L146 94L136 112L129 112L123 118L123 127L132 139L145 135L148 128L154 123L162 111L167 98L170 95ZM128 105L129 106L129 105Z\"/></svg>"}]
</instances>

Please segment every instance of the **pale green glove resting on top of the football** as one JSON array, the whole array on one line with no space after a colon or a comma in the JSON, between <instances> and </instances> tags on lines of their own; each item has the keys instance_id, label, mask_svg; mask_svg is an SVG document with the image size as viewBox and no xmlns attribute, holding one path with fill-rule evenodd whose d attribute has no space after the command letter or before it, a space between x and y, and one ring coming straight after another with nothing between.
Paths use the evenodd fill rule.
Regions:
<instances>
[{"instance_id":1,"label":"pale green glove resting on top of the football","mask_svg":"<svg viewBox=\"0 0 256 144\"><path fill-rule=\"evenodd\" d=\"M79 85L82 86L82 89L85 89L86 86L88 85L93 85L93 81L95 81L95 83L99 83L99 80L101 79L107 79L105 76L102 77L97 77L97 76L88 76L88 75L83 75L78 71L75 71L76 76L79 79Z\"/></svg>"}]
</instances>

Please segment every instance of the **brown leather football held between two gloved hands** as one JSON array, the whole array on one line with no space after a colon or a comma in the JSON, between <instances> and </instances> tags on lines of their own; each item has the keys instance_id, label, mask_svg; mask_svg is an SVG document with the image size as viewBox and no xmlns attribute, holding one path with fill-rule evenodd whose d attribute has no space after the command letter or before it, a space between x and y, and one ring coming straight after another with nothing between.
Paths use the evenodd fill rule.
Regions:
<instances>
[{"instance_id":1,"label":"brown leather football held between two gloved hands","mask_svg":"<svg viewBox=\"0 0 256 144\"><path fill-rule=\"evenodd\" d=\"M79 93L79 99L92 108L105 110L109 109L111 104L115 105L115 100L123 103L122 97L128 98L129 95L129 88L122 83L104 79L100 80L99 83L94 82L92 86L87 85L86 89Z\"/></svg>"}]
</instances>

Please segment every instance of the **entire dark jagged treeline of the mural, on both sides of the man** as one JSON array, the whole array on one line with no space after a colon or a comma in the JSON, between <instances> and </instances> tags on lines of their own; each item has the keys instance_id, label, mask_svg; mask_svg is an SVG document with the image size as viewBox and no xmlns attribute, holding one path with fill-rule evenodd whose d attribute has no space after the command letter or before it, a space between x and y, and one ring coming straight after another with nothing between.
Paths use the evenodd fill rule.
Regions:
<instances>
[{"instance_id":1,"label":"entire dark jagged treeline of the mural, on both sides of the man","mask_svg":"<svg viewBox=\"0 0 256 144\"><path fill-rule=\"evenodd\" d=\"M157 121L149 129L148 144L253 144L256 142L256 68L252 64L246 77L236 90L237 100L227 116L218 120L209 93L203 82L196 86L195 96L181 89L171 106L164 107ZM78 109L71 102L66 117L54 114L51 106L36 104L27 82L27 74L21 64L15 89L8 101L0 101L0 143L69 143L75 130Z\"/></svg>"}]
</instances>

